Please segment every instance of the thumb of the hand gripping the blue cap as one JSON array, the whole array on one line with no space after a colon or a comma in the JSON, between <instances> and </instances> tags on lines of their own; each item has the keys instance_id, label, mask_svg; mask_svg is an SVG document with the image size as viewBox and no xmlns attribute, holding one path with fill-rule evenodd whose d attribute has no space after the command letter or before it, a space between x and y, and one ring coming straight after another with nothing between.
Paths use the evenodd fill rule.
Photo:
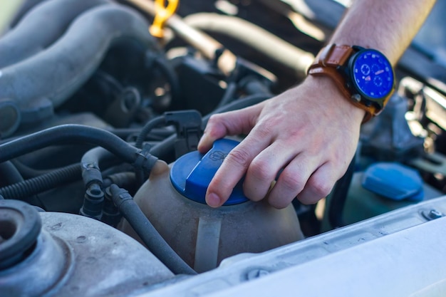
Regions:
<instances>
[{"instance_id":1,"label":"thumb of the hand gripping the blue cap","mask_svg":"<svg viewBox=\"0 0 446 297\"><path fill-rule=\"evenodd\" d=\"M207 152L215 140L227 135L248 134L254 127L258 114L259 105L254 105L242 110L212 115L199 140L199 152Z\"/></svg>"}]
</instances>

